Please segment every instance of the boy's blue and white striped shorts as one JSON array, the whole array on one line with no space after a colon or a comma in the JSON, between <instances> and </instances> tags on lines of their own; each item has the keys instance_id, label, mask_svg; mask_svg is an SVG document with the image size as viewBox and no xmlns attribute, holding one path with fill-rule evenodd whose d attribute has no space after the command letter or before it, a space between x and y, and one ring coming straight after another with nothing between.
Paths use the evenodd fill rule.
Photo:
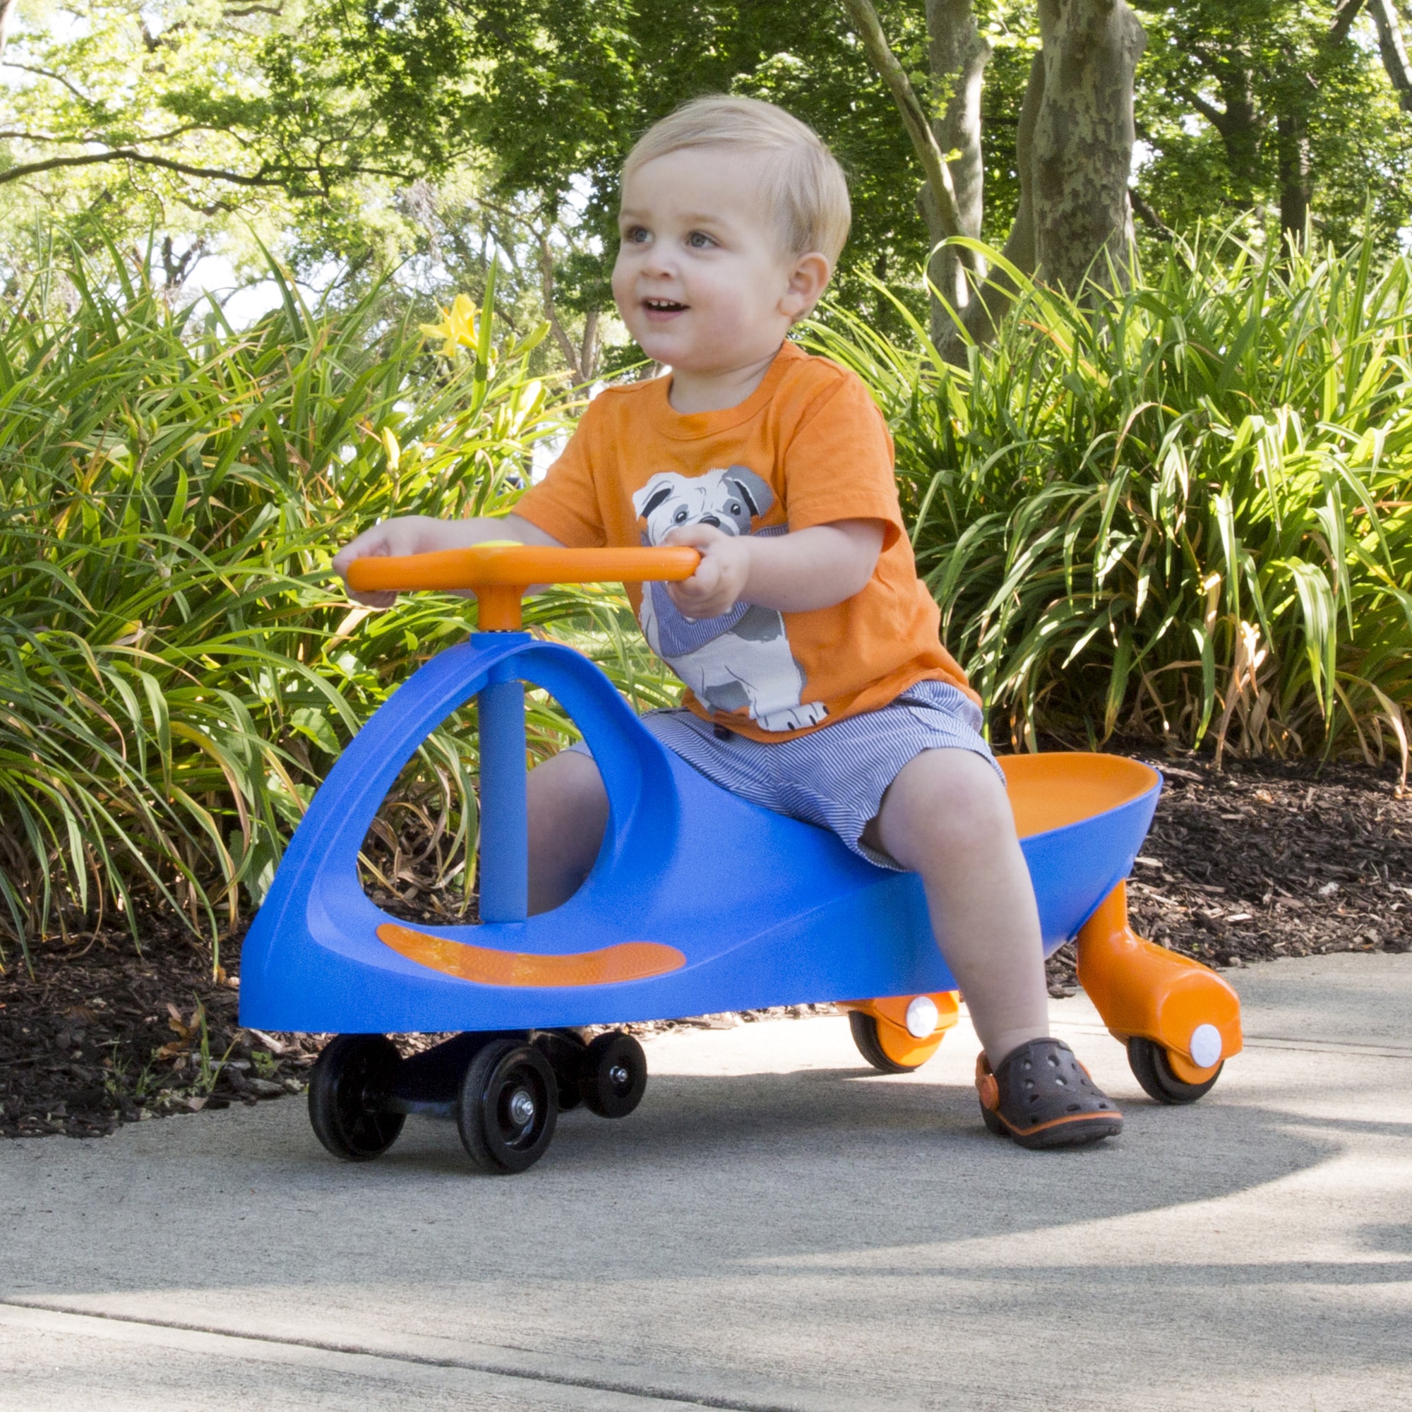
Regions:
<instances>
[{"instance_id":1,"label":"boy's blue and white striped shorts","mask_svg":"<svg viewBox=\"0 0 1412 1412\"><path fill-rule=\"evenodd\" d=\"M888 785L923 750L970 750L1005 778L980 734L980 707L947 682L916 682L878 710L791 740L717 730L689 710L648 712L642 724L723 789L830 829L854 853L888 868L897 863L867 847L861 834ZM570 748L592 754L582 743Z\"/></svg>"}]
</instances>

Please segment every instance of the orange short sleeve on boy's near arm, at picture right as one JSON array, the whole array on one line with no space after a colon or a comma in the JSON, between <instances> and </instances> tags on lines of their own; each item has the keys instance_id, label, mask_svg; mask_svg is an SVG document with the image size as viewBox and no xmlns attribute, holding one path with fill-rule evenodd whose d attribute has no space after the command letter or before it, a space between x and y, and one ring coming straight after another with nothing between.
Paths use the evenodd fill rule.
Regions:
<instances>
[{"instance_id":1,"label":"orange short sleeve on boy's near arm, at picture right","mask_svg":"<svg viewBox=\"0 0 1412 1412\"><path fill-rule=\"evenodd\" d=\"M784 455L791 530L834 520L881 520L882 548L904 532L892 438L861 378L840 370L803 409Z\"/></svg>"}]
</instances>

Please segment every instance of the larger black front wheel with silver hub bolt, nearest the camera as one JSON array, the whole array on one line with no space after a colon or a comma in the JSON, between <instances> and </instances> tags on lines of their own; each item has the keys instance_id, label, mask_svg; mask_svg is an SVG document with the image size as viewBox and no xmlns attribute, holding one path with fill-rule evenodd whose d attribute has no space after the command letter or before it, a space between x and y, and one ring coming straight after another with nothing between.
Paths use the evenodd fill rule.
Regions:
<instances>
[{"instance_id":1,"label":"larger black front wheel with silver hub bolt, nearest the camera","mask_svg":"<svg viewBox=\"0 0 1412 1412\"><path fill-rule=\"evenodd\" d=\"M456 1127L483 1172L524 1172L554 1141L559 1086L549 1060L515 1039L493 1039L477 1051L460 1082Z\"/></svg>"}]
</instances>

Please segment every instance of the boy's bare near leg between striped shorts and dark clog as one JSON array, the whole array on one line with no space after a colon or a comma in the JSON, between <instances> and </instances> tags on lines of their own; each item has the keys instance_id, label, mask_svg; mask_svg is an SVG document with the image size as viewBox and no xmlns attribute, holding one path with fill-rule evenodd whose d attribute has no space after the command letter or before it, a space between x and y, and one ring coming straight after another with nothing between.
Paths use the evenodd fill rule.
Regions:
<instances>
[{"instance_id":1,"label":"boy's bare near leg between striped shorts and dark clog","mask_svg":"<svg viewBox=\"0 0 1412 1412\"><path fill-rule=\"evenodd\" d=\"M993 1066L1049 1034L1039 912L995 771L969 750L926 750L864 834L922 874L932 931Z\"/></svg>"}]
</instances>

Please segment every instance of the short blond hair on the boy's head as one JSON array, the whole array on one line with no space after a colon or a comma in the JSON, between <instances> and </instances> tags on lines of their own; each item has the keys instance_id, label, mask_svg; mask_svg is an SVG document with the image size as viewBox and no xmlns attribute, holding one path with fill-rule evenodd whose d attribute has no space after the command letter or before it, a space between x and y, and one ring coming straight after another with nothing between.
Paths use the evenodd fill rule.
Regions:
<instances>
[{"instance_id":1,"label":"short blond hair on the boy's head","mask_svg":"<svg viewBox=\"0 0 1412 1412\"><path fill-rule=\"evenodd\" d=\"M765 201L789 254L818 250L832 265L849 239L853 212L843 168L819 134L774 103L714 93L654 123L627 154L626 184L640 167L689 147L758 152L768 165Z\"/></svg>"}]
</instances>

